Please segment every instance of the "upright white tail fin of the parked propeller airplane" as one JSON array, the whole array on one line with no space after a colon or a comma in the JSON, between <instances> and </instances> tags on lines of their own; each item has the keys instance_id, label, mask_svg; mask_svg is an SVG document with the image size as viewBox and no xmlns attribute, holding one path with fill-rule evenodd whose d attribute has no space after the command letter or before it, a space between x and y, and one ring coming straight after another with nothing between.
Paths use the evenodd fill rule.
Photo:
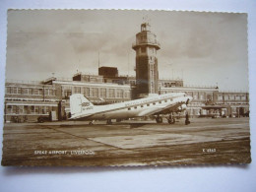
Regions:
<instances>
[{"instance_id":1,"label":"upright white tail fin of the parked propeller airplane","mask_svg":"<svg viewBox=\"0 0 256 192\"><path fill-rule=\"evenodd\" d=\"M74 94L70 96L70 112L71 116L77 113L81 113L85 110L90 110L94 108L94 104L89 101L82 94Z\"/></svg>"}]
</instances>

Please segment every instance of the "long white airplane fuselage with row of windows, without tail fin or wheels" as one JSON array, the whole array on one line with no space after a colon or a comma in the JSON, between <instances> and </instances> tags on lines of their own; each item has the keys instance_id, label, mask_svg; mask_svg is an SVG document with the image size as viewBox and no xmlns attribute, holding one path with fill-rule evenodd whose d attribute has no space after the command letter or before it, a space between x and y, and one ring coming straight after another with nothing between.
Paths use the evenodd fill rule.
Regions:
<instances>
[{"instance_id":1,"label":"long white airplane fuselage with row of windows, without tail fin or wheels","mask_svg":"<svg viewBox=\"0 0 256 192\"><path fill-rule=\"evenodd\" d=\"M158 115L174 112L177 107L184 108L186 101L191 99L183 93L171 93L150 96L125 102L107 105L85 105L82 102L81 111L72 114L74 120L107 120L127 119L147 115Z\"/></svg>"}]
</instances>

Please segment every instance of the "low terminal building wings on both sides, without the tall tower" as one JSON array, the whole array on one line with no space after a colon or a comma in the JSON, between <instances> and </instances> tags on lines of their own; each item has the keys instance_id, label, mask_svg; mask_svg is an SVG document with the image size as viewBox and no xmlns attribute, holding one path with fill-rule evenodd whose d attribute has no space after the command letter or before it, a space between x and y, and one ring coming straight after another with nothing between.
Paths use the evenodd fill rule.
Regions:
<instances>
[{"instance_id":1,"label":"low terminal building wings on both sides, without the tall tower","mask_svg":"<svg viewBox=\"0 0 256 192\"><path fill-rule=\"evenodd\" d=\"M117 81L118 79L118 81ZM94 104L109 104L133 99L134 77L107 77L75 74L73 80L49 78L42 82L7 81L5 121L36 121L51 115L52 120L68 116L69 96L83 94ZM248 93L222 93L218 87L184 87L181 80L160 80L159 93L185 93L193 97L190 116L243 116L249 110ZM183 114L181 114L183 115Z\"/></svg>"}]
</instances>

